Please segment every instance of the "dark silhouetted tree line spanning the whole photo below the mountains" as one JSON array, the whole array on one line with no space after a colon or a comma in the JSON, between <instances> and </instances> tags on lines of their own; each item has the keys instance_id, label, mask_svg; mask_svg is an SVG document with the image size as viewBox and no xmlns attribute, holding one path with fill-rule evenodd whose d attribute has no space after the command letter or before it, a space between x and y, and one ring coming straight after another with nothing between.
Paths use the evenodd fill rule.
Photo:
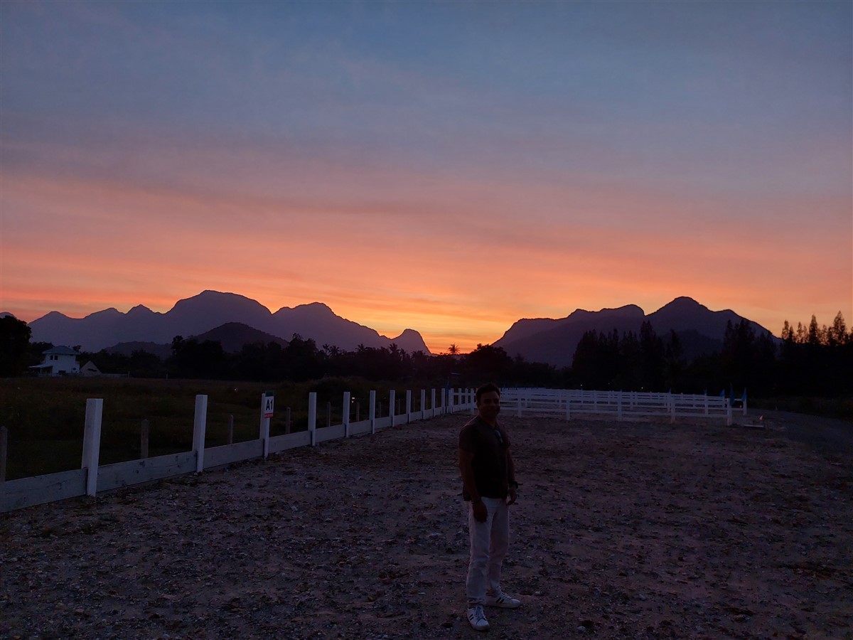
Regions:
<instances>
[{"instance_id":1,"label":"dark silhouetted tree line spanning the whole photo below the mountains","mask_svg":"<svg viewBox=\"0 0 853 640\"><path fill-rule=\"evenodd\" d=\"M0 375L22 375L39 364L50 346L30 342L30 329L15 317L0 318ZM477 345L460 354L451 345L439 355L405 352L397 345L354 351L317 346L293 335L287 345L247 344L225 352L218 341L176 336L171 356L135 351L130 356L81 352L104 373L148 378L246 381L310 381L328 376L469 387L492 380L514 387L563 387L673 393L719 393L746 389L751 397L786 394L837 396L853 393L853 331L841 313L831 327L811 322L797 329L787 321L782 339L757 335L746 321L728 323L722 346L689 357L682 336L657 335L651 323L639 332L589 331L577 344L571 367L527 362L501 347Z\"/></svg>"}]
</instances>

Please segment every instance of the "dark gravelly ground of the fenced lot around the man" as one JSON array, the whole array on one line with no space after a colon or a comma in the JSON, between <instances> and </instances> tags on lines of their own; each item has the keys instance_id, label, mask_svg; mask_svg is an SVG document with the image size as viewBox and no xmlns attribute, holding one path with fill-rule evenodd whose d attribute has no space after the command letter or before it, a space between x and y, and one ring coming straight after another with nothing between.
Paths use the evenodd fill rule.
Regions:
<instances>
[{"instance_id":1,"label":"dark gravelly ground of the fenced lot around the man","mask_svg":"<svg viewBox=\"0 0 853 640\"><path fill-rule=\"evenodd\" d=\"M850 423L505 417L524 603L481 634L463 421L0 516L0 637L853 637Z\"/></svg>"}]
</instances>

